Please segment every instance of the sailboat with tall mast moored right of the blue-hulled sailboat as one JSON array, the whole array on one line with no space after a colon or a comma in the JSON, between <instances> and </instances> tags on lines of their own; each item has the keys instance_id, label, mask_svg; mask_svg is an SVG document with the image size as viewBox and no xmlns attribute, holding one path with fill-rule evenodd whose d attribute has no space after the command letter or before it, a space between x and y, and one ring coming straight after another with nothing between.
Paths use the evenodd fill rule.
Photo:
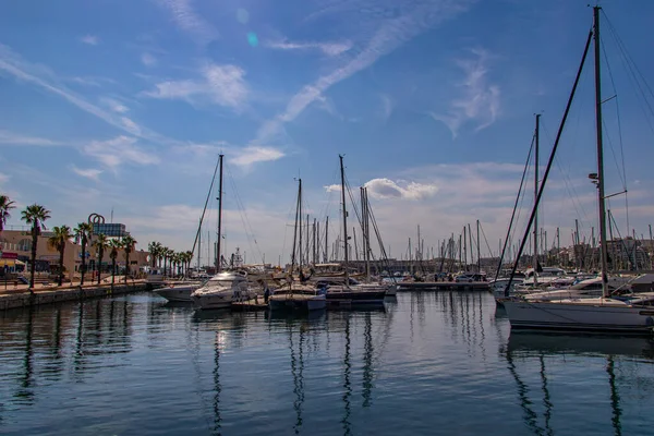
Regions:
<instances>
[{"instance_id":1,"label":"sailboat with tall mast moored right of the blue-hulled sailboat","mask_svg":"<svg viewBox=\"0 0 654 436\"><path fill-rule=\"evenodd\" d=\"M327 288L327 303L329 306L336 307L352 307L364 306L375 307L384 306L384 298L386 296L386 287L376 284L350 284L350 275L348 264L350 261L348 250L348 210L346 205L346 172L343 168L343 156L340 158L341 172L341 199L343 211L343 241L344 241L344 262L343 262L343 282L342 284L330 286Z\"/></svg>"}]
</instances>

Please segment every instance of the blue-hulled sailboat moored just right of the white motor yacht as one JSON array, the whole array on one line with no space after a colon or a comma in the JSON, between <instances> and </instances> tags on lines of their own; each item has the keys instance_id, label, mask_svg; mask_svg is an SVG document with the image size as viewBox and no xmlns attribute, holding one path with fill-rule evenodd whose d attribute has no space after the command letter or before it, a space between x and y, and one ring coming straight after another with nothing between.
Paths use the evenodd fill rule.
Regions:
<instances>
[{"instance_id":1,"label":"blue-hulled sailboat moored just right of the white motor yacht","mask_svg":"<svg viewBox=\"0 0 654 436\"><path fill-rule=\"evenodd\" d=\"M295 249L298 242L298 220L302 216L302 179L298 180L298 203L295 207L295 228L293 230L293 251L291 254L291 270L287 283L278 289L272 290L272 294L268 299L271 311L281 310L301 310L301 311L318 311L325 308L327 301L323 289L316 289L313 286L296 282L293 279L295 269ZM299 249L302 250L302 249ZM302 277L302 265L299 266L300 276Z\"/></svg>"}]
</instances>

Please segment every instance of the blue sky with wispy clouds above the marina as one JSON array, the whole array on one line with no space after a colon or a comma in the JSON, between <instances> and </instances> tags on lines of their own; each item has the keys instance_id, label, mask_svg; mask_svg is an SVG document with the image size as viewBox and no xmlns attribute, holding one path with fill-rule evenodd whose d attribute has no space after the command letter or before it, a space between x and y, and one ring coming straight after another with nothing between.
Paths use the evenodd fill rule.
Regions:
<instances>
[{"instance_id":1,"label":"blue sky with wispy clouds above the marina","mask_svg":"<svg viewBox=\"0 0 654 436\"><path fill-rule=\"evenodd\" d=\"M223 254L239 246L246 262L286 262L298 178L311 222L324 232L329 216L332 251L340 154L352 196L368 187L391 257L407 256L409 238L415 246L417 226L426 256L468 223L476 238L477 219L482 256L497 255L535 113L544 172L592 25L588 3L8 2L0 192L19 206L8 225L38 203L51 210L50 227L113 214L138 249L190 250L222 153ZM654 2L601 4L606 193L628 191L610 198L613 230L647 238ZM592 60L538 216L548 246L557 227L565 245L576 219L581 239L598 222L588 180L597 166ZM533 202L529 183L513 242ZM217 196L205 247L216 240Z\"/></svg>"}]
</instances>

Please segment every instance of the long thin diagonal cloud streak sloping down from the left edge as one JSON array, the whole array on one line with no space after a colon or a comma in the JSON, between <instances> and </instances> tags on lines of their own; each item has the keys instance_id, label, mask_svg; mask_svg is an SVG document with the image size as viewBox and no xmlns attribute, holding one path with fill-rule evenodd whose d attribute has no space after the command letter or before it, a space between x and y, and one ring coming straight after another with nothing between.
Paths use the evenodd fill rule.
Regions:
<instances>
[{"instance_id":1,"label":"long thin diagonal cloud streak sloping down from the left edge","mask_svg":"<svg viewBox=\"0 0 654 436\"><path fill-rule=\"evenodd\" d=\"M31 64L24 61L19 55L14 53L9 47L0 44L0 74L4 72L20 81L36 85L51 94L55 94L70 104L76 106L85 112L88 112L108 124L122 130L123 132L134 134L141 138L174 144L174 140L165 137L149 129L138 126L138 133L135 133L136 129L130 123L125 123L124 117L120 117L117 113L108 112L102 108L90 104L85 98L81 97L76 93L68 89L65 86L58 83L57 77L49 70L43 66ZM130 120L131 121L131 120ZM133 123L133 121L132 121Z\"/></svg>"}]
</instances>

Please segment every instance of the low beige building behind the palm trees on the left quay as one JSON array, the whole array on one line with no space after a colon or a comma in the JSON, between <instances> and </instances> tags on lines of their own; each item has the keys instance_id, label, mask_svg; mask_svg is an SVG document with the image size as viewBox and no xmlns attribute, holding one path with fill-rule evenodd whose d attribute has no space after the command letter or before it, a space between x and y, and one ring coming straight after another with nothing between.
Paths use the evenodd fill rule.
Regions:
<instances>
[{"instance_id":1,"label":"low beige building behind the palm trees on the left quay","mask_svg":"<svg viewBox=\"0 0 654 436\"><path fill-rule=\"evenodd\" d=\"M44 230L38 237L36 247L36 270L57 274L59 271L59 252L48 245L48 239L52 232ZM29 229L24 230L4 230L0 237L2 256L0 257L0 268L7 266L8 271L27 271L32 258L32 233ZM110 250L106 250L102 256L101 271L110 274L111 257ZM96 271L98 263L98 253L89 243L86 247L87 271ZM120 250L116 258L119 274L125 269L125 253ZM138 272L140 268L149 265L149 253L143 250L134 251L130 254L130 271ZM71 278L71 272L78 276L82 266L82 246L75 244L72 240L65 244L63 252L63 267L65 277Z\"/></svg>"}]
</instances>

